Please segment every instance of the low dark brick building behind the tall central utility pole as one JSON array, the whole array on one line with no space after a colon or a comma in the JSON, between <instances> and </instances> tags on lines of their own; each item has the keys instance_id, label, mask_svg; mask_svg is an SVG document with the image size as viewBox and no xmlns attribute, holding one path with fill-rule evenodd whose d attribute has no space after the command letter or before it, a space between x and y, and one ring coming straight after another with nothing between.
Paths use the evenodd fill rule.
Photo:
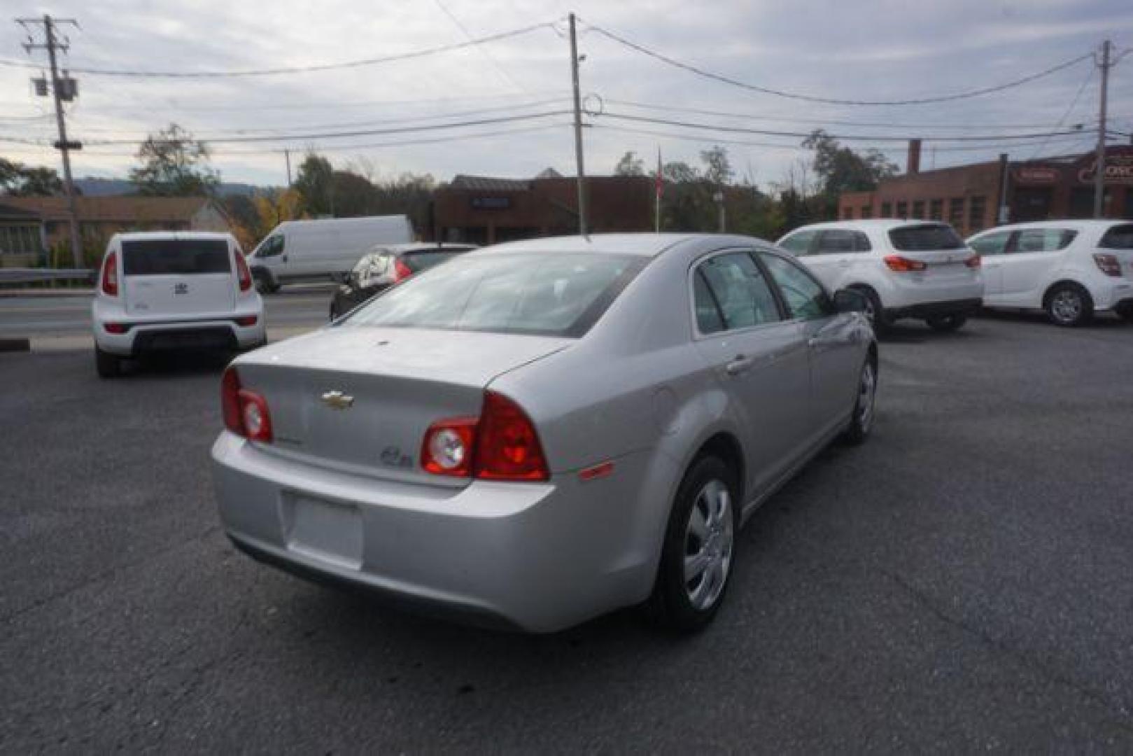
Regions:
<instances>
[{"instance_id":1,"label":"low dark brick building behind the tall central utility pole","mask_svg":"<svg viewBox=\"0 0 1133 756\"><path fill-rule=\"evenodd\" d=\"M653 229L653 179L591 176L586 187L591 231ZM435 239L482 245L577 233L576 182L550 169L526 180L457 176L434 193L432 226Z\"/></svg>"}]
</instances>

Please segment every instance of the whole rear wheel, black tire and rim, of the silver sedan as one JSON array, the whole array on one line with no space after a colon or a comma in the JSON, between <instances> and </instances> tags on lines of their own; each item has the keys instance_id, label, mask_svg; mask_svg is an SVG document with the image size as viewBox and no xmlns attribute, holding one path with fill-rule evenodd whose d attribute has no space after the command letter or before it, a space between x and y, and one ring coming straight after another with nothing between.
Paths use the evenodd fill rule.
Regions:
<instances>
[{"instance_id":1,"label":"whole rear wheel, black tire and rim, of the silver sedan","mask_svg":"<svg viewBox=\"0 0 1133 756\"><path fill-rule=\"evenodd\" d=\"M705 628L727 593L739 530L735 473L716 457L696 460L681 481L647 608L678 632Z\"/></svg>"}]
</instances>

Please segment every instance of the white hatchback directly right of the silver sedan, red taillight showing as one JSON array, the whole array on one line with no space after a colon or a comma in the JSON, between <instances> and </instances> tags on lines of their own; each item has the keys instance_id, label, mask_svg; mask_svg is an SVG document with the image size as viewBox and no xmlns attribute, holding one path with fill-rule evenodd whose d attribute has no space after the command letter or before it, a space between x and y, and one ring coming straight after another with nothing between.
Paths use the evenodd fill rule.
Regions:
<instances>
[{"instance_id":1,"label":"white hatchback directly right of the silver sedan, red taillight showing","mask_svg":"<svg viewBox=\"0 0 1133 756\"><path fill-rule=\"evenodd\" d=\"M954 331L983 297L980 257L947 223L906 220L834 221L804 226L778 245L830 290L866 295L875 329L901 317Z\"/></svg>"}]
</instances>

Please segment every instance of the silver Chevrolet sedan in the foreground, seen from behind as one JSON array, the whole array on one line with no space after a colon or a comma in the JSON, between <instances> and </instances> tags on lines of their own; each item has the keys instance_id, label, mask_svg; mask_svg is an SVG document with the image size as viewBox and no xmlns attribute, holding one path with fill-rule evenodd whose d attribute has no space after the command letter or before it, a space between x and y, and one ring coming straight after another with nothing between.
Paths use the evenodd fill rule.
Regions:
<instances>
[{"instance_id":1,"label":"silver Chevrolet sedan in the foreground, seen from behind","mask_svg":"<svg viewBox=\"0 0 1133 756\"><path fill-rule=\"evenodd\" d=\"M232 363L221 519L264 562L463 621L704 627L746 518L869 434L862 304L740 236L463 255Z\"/></svg>"}]
</instances>

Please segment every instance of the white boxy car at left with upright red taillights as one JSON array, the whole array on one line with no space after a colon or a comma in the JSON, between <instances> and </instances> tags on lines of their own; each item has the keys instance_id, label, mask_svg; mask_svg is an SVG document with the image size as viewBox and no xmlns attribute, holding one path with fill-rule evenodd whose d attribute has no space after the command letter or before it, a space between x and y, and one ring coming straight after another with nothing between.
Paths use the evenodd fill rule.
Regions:
<instances>
[{"instance_id":1,"label":"white boxy car at left with upright red taillights","mask_svg":"<svg viewBox=\"0 0 1133 756\"><path fill-rule=\"evenodd\" d=\"M266 342L264 304L231 233L116 233L102 258L91 321L102 377L148 351Z\"/></svg>"}]
</instances>

